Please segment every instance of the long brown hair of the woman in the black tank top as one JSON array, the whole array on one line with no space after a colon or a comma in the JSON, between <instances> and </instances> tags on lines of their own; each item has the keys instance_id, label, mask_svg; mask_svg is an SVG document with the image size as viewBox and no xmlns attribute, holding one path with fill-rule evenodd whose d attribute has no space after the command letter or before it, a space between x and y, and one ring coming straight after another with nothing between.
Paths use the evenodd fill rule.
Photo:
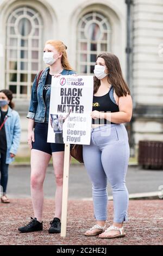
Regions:
<instances>
[{"instance_id":1,"label":"long brown hair of the woman in the black tank top","mask_svg":"<svg viewBox=\"0 0 163 256\"><path fill-rule=\"evenodd\" d=\"M130 95L130 90L126 81L123 78L120 60L112 53L98 54L97 58L103 58L105 60L106 68L109 70L108 83L111 83L115 89L115 93L118 97ZM95 76L94 77L94 94L97 92L101 82Z\"/></svg>"}]
</instances>

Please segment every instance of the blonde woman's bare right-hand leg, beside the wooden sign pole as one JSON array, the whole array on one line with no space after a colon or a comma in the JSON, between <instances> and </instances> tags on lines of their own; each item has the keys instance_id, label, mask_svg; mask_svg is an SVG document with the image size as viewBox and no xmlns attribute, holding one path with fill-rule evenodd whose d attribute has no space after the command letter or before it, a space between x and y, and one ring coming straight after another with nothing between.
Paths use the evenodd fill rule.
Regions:
<instances>
[{"instance_id":1,"label":"blonde woman's bare right-hand leg, beside the wooden sign pole","mask_svg":"<svg viewBox=\"0 0 163 256\"><path fill-rule=\"evenodd\" d=\"M53 152L53 167L56 180L56 191L55 191L55 215L61 219L61 208L62 208L62 187L63 187L63 173L64 173L64 151Z\"/></svg>"}]
</instances>

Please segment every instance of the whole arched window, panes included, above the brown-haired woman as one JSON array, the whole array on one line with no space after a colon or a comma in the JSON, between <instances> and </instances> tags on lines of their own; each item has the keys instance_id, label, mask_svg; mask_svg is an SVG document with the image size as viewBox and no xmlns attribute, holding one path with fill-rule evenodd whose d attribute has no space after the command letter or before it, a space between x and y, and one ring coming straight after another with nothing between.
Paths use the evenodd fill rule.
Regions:
<instances>
[{"instance_id":1,"label":"whole arched window, panes included, above the brown-haired woman","mask_svg":"<svg viewBox=\"0 0 163 256\"><path fill-rule=\"evenodd\" d=\"M81 75L93 73L97 54L111 51L111 26L107 17L87 13L78 23L77 67Z\"/></svg>"}]
</instances>

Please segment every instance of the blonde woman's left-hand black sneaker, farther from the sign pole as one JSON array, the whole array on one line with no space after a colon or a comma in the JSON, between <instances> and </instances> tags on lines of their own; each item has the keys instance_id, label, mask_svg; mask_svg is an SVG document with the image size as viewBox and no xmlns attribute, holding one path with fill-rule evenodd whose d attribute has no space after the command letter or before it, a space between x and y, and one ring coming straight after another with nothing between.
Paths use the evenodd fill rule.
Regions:
<instances>
[{"instance_id":1,"label":"blonde woman's left-hand black sneaker, farther from the sign pole","mask_svg":"<svg viewBox=\"0 0 163 256\"><path fill-rule=\"evenodd\" d=\"M43 229L42 222L40 223L36 218L30 218L32 221L30 221L26 226L18 228L18 231L21 233L28 233L33 231L41 231Z\"/></svg>"}]
</instances>

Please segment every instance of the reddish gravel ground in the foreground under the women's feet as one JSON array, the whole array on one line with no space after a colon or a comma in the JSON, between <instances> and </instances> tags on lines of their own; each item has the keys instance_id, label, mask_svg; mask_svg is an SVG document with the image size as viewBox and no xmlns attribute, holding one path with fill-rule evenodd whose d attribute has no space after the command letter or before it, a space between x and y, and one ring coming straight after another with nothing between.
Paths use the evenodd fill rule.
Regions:
<instances>
[{"instance_id":1,"label":"reddish gravel ground in the foreground under the women's feet","mask_svg":"<svg viewBox=\"0 0 163 256\"><path fill-rule=\"evenodd\" d=\"M54 201L46 199L43 231L20 234L17 227L32 216L30 199L12 199L8 205L0 203L0 245L163 245L162 200L130 200L129 222L124 225L126 237L99 239L85 237L84 231L94 224L92 202L71 200L68 203L67 235L49 234L49 221L53 218ZM108 225L112 219L109 203Z\"/></svg>"}]
</instances>

